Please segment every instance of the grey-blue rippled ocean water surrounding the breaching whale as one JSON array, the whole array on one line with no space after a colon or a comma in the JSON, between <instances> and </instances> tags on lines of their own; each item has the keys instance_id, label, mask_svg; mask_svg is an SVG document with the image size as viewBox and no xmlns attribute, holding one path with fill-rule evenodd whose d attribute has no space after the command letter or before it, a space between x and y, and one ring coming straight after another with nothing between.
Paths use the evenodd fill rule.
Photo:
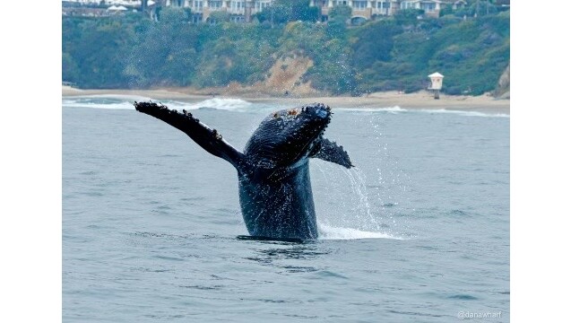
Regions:
<instances>
[{"instance_id":1,"label":"grey-blue rippled ocean water surrounding the breaching whale","mask_svg":"<svg viewBox=\"0 0 571 323\"><path fill-rule=\"evenodd\" d=\"M509 321L508 116L333 106L357 167L310 162L293 243L239 239L236 171L134 100L63 99L65 322ZM284 108L163 103L240 149Z\"/></svg>"}]
</instances>

